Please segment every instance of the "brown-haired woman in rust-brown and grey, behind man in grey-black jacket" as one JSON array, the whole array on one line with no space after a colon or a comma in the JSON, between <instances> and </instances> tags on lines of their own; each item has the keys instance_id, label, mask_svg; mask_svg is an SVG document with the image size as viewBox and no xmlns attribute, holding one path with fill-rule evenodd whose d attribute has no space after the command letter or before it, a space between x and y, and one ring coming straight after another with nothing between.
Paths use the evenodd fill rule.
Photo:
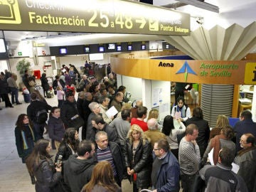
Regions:
<instances>
[{"instance_id":1,"label":"brown-haired woman in rust-brown and grey, behind man in grey-black jacket","mask_svg":"<svg viewBox=\"0 0 256 192\"><path fill-rule=\"evenodd\" d=\"M213 162L216 165L218 162L218 154L220 149L222 149L224 146L230 149L233 153L233 157L235 158L235 143L231 141L233 139L235 133L233 131L233 128L230 127L230 125L224 127L221 129L220 134L213 137L213 139L210 139L210 142L208 143L207 149L205 153L203 154L203 159L201 161L201 165L203 166L206 164L206 161L208 159L208 154L211 149L213 149Z\"/></svg>"}]
</instances>

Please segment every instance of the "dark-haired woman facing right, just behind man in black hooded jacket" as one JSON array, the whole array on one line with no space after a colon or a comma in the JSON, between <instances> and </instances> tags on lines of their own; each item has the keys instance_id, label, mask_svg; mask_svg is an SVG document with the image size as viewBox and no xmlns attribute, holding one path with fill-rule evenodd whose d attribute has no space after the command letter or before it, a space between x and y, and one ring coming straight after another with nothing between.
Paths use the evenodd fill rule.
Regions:
<instances>
[{"instance_id":1,"label":"dark-haired woman facing right, just behind man in black hooded jacket","mask_svg":"<svg viewBox=\"0 0 256 192\"><path fill-rule=\"evenodd\" d=\"M60 147L55 156L55 162L58 160L58 156L63 156L63 161L68 160L69 156L77 153L79 144L78 132L75 128L66 129L63 141L60 143Z\"/></svg>"}]
</instances>

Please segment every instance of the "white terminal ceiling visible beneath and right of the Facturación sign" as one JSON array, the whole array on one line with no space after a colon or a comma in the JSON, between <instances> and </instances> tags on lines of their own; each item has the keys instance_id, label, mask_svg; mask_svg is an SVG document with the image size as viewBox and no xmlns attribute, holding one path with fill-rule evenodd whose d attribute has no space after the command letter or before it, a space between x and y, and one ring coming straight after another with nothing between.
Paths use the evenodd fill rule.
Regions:
<instances>
[{"instance_id":1,"label":"white terminal ceiling visible beneath and right of the Facturaci\u00f3n sign","mask_svg":"<svg viewBox=\"0 0 256 192\"><path fill-rule=\"evenodd\" d=\"M190 0L188 0L190 1ZM193 0L191 0L193 1ZM183 11L191 15L191 31L198 28L199 24L196 22L198 18L203 18L203 27L212 28L215 25L227 28L233 23L238 23L240 26L247 26L253 21L256 21L254 8L256 7L255 0L238 1L238 0L205 0L207 4L213 4L219 7L220 13L206 11L204 9L196 8L195 6L181 6L176 10ZM154 0L155 6L170 6L170 4L177 4L174 0ZM213 19L215 18L215 19ZM18 41L28 39L37 39L41 41L48 41L49 46L68 46L86 43L110 43L120 41L156 41L161 40L156 35L137 35L137 34L95 34L85 33L64 33L64 32L38 32L38 31L4 31L4 37L10 46L15 46ZM56 41L53 37L66 37L65 41ZM72 38L71 38L72 37Z\"/></svg>"}]
</instances>

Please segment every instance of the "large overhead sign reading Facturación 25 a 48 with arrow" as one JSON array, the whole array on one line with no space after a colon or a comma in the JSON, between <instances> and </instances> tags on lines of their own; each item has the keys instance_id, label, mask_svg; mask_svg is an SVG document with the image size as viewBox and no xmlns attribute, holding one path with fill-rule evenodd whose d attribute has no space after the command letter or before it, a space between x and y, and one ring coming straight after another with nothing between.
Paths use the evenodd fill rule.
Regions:
<instances>
[{"instance_id":1,"label":"large overhead sign reading Facturaci\u00f3n 25 a 48 with arrow","mask_svg":"<svg viewBox=\"0 0 256 192\"><path fill-rule=\"evenodd\" d=\"M190 15L119 0L2 0L1 30L188 36Z\"/></svg>"}]
</instances>

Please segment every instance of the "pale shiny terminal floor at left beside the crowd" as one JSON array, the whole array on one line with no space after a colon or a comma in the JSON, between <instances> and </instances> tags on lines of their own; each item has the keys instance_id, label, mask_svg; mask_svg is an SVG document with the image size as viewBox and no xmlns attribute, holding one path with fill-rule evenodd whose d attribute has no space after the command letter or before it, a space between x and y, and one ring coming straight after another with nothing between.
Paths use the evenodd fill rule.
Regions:
<instances>
[{"instance_id":1,"label":"pale shiny terminal floor at left beside the crowd","mask_svg":"<svg viewBox=\"0 0 256 192\"><path fill-rule=\"evenodd\" d=\"M11 97L10 97L11 99ZM0 102L0 191L4 192L31 192L35 191L31 184L26 165L21 163L18 157L14 128L18 114L26 113L28 104L23 101L23 95L19 95L22 105L14 105L14 108L5 108L4 102ZM57 106L57 97L47 99L51 106ZM52 151L54 154L55 151ZM132 186L127 180L122 182L122 191L132 191Z\"/></svg>"}]
</instances>

